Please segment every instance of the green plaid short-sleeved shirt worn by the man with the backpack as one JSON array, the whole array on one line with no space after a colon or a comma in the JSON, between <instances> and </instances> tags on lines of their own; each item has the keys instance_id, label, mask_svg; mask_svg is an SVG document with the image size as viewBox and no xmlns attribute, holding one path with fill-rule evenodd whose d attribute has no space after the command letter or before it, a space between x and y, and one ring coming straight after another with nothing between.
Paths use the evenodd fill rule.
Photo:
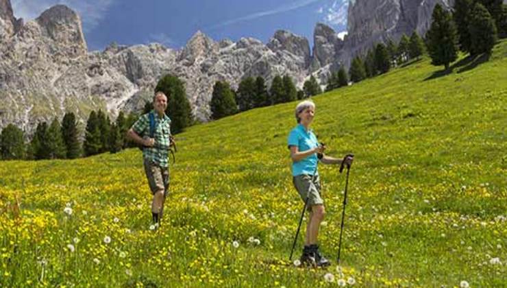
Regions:
<instances>
[{"instance_id":1,"label":"green plaid short-sleeved shirt worn by the man with the backpack","mask_svg":"<svg viewBox=\"0 0 507 288\"><path fill-rule=\"evenodd\" d=\"M171 136L171 119L164 114L162 119L158 118L155 110L150 113L155 115L155 145L153 147L145 147L143 149L143 158L152 160L160 167L169 166L169 136ZM149 137L149 113L139 117L139 119L132 125L132 130L139 136L145 138Z\"/></svg>"}]
</instances>

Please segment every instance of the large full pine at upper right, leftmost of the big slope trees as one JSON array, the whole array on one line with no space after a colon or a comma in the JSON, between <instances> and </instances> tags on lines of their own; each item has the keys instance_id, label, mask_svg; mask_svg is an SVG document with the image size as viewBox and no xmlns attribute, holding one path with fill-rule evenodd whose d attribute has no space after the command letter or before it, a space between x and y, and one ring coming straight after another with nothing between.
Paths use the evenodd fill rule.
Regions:
<instances>
[{"instance_id":1,"label":"large full pine at upper right, leftmost of the big slope trees","mask_svg":"<svg viewBox=\"0 0 507 288\"><path fill-rule=\"evenodd\" d=\"M445 69L449 69L449 63L458 58L458 32L450 13L440 4L435 5L426 37L432 64L444 65Z\"/></svg>"}]
</instances>

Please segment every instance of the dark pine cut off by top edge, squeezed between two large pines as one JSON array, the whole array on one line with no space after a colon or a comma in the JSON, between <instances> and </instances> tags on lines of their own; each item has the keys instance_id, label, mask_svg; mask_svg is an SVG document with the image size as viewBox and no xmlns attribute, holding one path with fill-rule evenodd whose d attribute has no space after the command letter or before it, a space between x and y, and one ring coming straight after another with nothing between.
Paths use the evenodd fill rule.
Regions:
<instances>
[{"instance_id":1,"label":"dark pine cut off by top edge, squeezed between two large pines","mask_svg":"<svg viewBox=\"0 0 507 288\"><path fill-rule=\"evenodd\" d=\"M458 30L458 43L461 51L470 51L470 16L473 8L473 0L455 0L452 18Z\"/></svg>"}]
</instances>

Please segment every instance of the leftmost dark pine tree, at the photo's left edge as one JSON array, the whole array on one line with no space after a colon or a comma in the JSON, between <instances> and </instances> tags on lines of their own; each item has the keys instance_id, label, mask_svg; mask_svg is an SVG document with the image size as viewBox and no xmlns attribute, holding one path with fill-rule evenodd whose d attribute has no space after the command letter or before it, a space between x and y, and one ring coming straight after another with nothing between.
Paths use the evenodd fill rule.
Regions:
<instances>
[{"instance_id":1,"label":"leftmost dark pine tree, at the photo's left edge","mask_svg":"<svg viewBox=\"0 0 507 288\"><path fill-rule=\"evenodd\" d=\"M0 135L0 153L3 160L20 160L25 158L25 140L23 130L9 124Z\"/></svg>"}]
</instances>

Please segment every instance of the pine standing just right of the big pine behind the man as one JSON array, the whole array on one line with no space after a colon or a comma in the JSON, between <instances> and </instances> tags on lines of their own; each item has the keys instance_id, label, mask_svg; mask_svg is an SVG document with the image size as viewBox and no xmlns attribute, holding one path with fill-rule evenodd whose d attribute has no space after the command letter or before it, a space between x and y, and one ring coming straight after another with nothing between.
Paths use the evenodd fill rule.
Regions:
<instances>
[{"instance_id":1,"label":"pine standing just right of the big pine behind the man","mask_svg":"<svg viewBox=\"0 0 507 288\"><path fill-rule=\"evenodd\" d=\"M215 120L221 119L238 112L234 94L227 82L217 81L213 86L213 95L211 97L211 117Z\"/></svg>"}]
</instances>

